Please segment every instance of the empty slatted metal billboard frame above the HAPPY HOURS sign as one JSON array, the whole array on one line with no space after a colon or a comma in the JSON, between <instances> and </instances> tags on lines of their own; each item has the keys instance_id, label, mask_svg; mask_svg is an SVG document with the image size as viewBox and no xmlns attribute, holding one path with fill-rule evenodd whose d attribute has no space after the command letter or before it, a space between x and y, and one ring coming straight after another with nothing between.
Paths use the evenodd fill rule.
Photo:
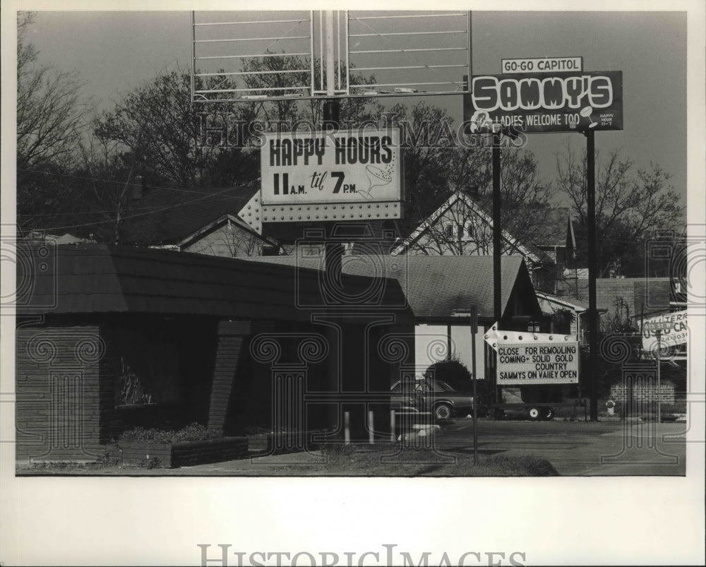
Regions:
<instances>
[{"instance_id":1,"label":"empty slatted metal billboard frame above the HAPPY HOURS sign","mask_svg":"<svg viewBox=\"0 0 706 567\"><path fill-rule=\"evenodd\" d=\"M309 11L299 17L258 20L249 12L246 20L196 21L191 12L191 101L253 102L312 100L321 97L400 97L458 95L469 92L463 79L472 75L471 16L469 12L381 13L349 11ZM306 15L304 15L306 14ZM270 16L271 17L271 16ZM429 20L437 27L426 31ZM419 27L415 27L420 23ZM244 32L259 25L263 35L247 37ZM288 26L282 32L282 25ZM306 26L306 32L299 31ZM351 30L351 26L354 30ZM400 25L407 25L400 28ZM402 29L400 31L400 29ZM208 30L211 30L210 32ZM213 30L224 30L225 37ZM424 47L414 40L424 38ZM460 40L459 40L460 38ZM351 42L355 44L351 46ZM377 42L377 44L376 44ZM259 46L267 44L264 49ZM384 47L381 47L381 44ZM289 47L281 53L273 46ZM231 46L218 47L218 46ZM208 51L210 49L210 51ZM462 58L447 61L452 52ZM388 56L392 64L378 64ZM256 58L299 57L301 68L244 71L242 65ZM434 61L433 58L443 58ZM237 61L229 69L199 70L200 64ZM373 61L371 63L371 61ZM318 68L317 68L318 67ZM330 70L334 71L331 72ZM327 71L328 70L328 71ZM381 75L380 83L356 83L361 72ZM455 73L455 74L450 74ZM289 77L288 85L228 88L197 88L197 80ZM292 78L294 80L292 81Z\"/></svg>"}]
</instances>

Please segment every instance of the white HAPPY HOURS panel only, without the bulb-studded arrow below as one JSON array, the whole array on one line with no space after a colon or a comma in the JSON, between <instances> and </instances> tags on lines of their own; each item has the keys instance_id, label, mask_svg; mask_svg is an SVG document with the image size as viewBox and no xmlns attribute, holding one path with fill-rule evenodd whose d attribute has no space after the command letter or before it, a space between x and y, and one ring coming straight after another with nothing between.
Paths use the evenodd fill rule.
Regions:
<instances>
[{"instance_id":1,"label":"white HAPPY HOURS panel only, without the bulb-studded arrow below","mask_svg":"<svg viewBox=\"0 0 706 567\"><path fill-rule=\"evenodd\" d=\"M263 205L401 201L399 129L265 134Z\"/></svg>"}]
</instances>

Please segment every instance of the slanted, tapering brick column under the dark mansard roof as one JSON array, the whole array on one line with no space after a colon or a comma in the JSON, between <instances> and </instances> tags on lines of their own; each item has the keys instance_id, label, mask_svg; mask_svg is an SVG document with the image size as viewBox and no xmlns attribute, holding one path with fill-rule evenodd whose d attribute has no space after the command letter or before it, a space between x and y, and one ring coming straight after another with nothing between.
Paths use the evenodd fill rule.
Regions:
<instances>
[{"instance_id":1,"label":"slanted, tapering brick column under the dark mansard roof","mask_svg":"<svg viewBox=\"0 0 706 567\"><path fill-rule=\"evenodd\" d=\"M223 431L238 363L251 332L250 321L218 323L218 350L208 406L208 429Z\"/></svg>"}]
</instances>

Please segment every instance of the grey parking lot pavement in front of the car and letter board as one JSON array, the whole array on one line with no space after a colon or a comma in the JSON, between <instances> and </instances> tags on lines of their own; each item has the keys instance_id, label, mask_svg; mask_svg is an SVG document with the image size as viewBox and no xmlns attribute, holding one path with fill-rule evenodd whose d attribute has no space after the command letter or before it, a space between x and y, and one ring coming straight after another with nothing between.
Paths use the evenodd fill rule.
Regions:
<instances>
[{"instance_id":1,"label":"grey parking lot pavement in front of the car and letter board","mask_svg":"<svg viewBox=\"0 0 706 567\"><path fill-rule=\"evenodd\" d=\"M534 455L560 475L686 475L684 424L654 422L478 422L481 454ZM669 442L664 440L669 436ZM473 447L472 419L445 424L436 436L443 448Z\"/></svg>"}]
</instances>

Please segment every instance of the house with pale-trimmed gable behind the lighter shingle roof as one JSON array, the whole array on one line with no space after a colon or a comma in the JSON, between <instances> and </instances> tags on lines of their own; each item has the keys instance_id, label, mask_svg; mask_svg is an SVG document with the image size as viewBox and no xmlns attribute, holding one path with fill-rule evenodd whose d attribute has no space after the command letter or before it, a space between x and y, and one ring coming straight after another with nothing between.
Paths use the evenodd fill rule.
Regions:
<instances>
[{"instance_id":1,"label":"house with pale-trimmed gable behind the lighter shingle roof","mask_svg":"<svg viewBox=\"0 0 706 567\"><path fill-rule=\"evenodd\" d=\"M532 241L517 238L503 230L503 255L522 256L534 286L554 292L567 257L575 249L569 210L557 208L538 211L537 226L528 232L532 234ZM455 191L409 237L397 244L391 254L491 256L492 216L471 195Z\"/></svg>"}]
</instances>

